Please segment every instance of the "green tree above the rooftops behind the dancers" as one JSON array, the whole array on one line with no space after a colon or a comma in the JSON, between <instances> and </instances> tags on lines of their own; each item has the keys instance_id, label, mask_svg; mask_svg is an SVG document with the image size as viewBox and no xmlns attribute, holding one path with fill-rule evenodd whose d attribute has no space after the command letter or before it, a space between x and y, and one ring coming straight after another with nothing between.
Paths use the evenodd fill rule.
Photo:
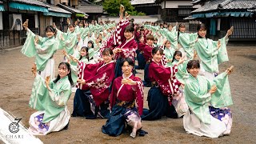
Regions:
<instances>
[{"instance_id":1,"label":"green tree above the rooftops behind the dancers","mask_svg":"<svg viewBox=\"0 0 256 144\"><path fill-rule=\"evenodd\" d=\"M122 4L122 6L125 6L125 9L128 12L128 14L130 15L138 14L138 12L134 9L134 6L131 6L130 0L105 0L103 2L103 9L108 14L110 14L110 16L118 16L120 4Z\"/></svg>"}]
</instances>

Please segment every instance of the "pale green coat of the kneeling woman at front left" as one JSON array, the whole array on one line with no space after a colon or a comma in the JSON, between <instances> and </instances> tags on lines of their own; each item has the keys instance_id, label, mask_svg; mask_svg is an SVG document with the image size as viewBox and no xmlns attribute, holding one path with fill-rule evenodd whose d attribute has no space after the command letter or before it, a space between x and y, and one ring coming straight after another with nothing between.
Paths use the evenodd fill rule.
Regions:
<instances>
[{"instance_id":1,"label":"pale green coat of the kneeling woman at front left","mask_svg":"<svg viewBox=\"0 0 256 144\"><path fill-rule=\"evenodd\" d=\"M71 86L68 76L58 82L50 82L50 90L46 88L45 80L37 74L34 79L30 107L36 110L44 110L42 122L50 122L65 109L66 102L71 95Z\"/></svg>"}]
</instances>

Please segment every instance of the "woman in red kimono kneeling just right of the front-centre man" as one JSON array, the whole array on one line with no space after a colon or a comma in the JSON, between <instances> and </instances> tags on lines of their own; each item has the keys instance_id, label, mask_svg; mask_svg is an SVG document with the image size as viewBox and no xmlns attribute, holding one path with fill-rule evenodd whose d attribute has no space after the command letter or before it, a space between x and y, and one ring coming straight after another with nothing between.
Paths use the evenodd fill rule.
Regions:
<instances>
[{"instance_id":1,"label":"woman in red kimono kneeling just right of the front-centre man","mask_svg":"<svg viewBox=\"0 0 256 144\"><path fill-rule=\"evenodd\" d=\"M149 66L149 78L154 86L149 90L147 101L149 110L143 110L142 119L154 120L162 116L178 118L178 115L171 105L173 94L178 93L180 82L175 78L178 65L184 62L181 58L173 67L164 67L161 64L163 50L155 47L152 50L152 62Z\"/></svg>"}]
</instances>

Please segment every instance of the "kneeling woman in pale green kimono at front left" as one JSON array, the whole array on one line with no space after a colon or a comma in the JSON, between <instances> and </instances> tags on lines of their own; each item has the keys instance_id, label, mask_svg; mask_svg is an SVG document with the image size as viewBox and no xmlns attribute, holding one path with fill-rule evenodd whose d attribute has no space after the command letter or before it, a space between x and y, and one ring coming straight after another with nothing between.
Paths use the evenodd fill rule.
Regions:
<instances>
[{"instance_id":1,"label":"kneeling woman in pale green kimono at front left","mask_svg":"<svg viewBox=\"0 0 256 144\"><path fill-rule=\"evenodd\" d=\"M50 82L50 76L44 80L36 73L34 64L32 72L35 76L30 107L39 110L30 116L29 131L32 134L49 134L52 131L67 129L70 112L66 102L71 95L73 84L70 74L70 64L61 62L58 66L58 77Z\"/></svg>"}]
</instances>

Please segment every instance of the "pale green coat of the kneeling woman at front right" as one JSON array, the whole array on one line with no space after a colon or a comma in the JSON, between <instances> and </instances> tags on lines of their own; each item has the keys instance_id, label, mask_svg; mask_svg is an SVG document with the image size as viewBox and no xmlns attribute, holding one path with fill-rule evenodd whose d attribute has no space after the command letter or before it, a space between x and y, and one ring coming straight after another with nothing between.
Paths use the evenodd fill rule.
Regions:
<instances>
[{"instance_id":1,"label":"pale green coat of the kneeling woman at front right","mask_svg":"<svg viewBox=\"0 0 256 144\"><path fill-rule=\"evenodd\" d=\"M226 72L219 74L214 78L214 82L200 75L197 78L189 75L184 88L186 103L202 122L210 124L209 106L221 108L233 104L228 75ZM213 85L216 85L218 90L210 94L208 91Z\"/></svg>"}]
</instances>

